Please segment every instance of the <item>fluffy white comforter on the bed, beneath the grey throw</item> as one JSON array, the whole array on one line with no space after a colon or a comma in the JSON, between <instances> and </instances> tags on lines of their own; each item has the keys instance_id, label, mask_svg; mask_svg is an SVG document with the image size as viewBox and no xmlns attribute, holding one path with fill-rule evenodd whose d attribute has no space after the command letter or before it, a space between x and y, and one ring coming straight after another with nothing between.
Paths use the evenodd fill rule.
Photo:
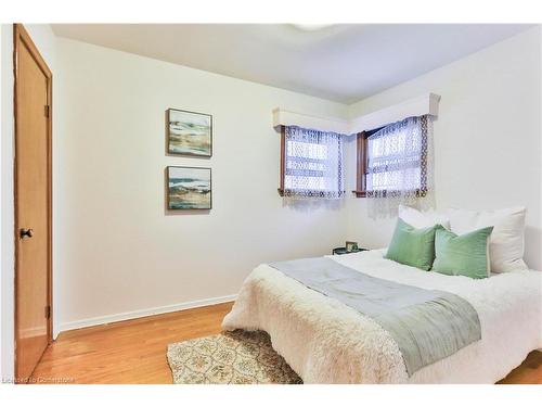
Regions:
<instances>
[{"instance_id":1,"label":"fluffy white comforter on the bed, beneath the grey throw","mask_svg":"<svg viewBox=\"0 0 542 407\"><path fill-rule=\"evenodd\" d=\"M409 378L397 343L376 322L267 265L247 277L222 327L267 331L306 383L494 383L542 348L540 271L473 280L403 266L383 258L382 251L331 258L366 275L462 296L478 311L481 340Z\"/></svg>"}]
</instances>

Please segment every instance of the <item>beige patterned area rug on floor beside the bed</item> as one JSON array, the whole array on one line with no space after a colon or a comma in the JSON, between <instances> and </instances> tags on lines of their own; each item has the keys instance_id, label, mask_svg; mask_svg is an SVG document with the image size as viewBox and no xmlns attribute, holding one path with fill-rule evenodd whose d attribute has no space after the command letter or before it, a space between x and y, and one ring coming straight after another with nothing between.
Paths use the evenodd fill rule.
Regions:
<instances>
[{"instance_id":1,"label":"beige patterned area rug on floor beside the bed","mask_svg":"<svg viewBox=\"0 0 542 407\"><path fill-rule=\"evenodd\" d=\"M168 345L176 384L301 384L267 332L235 330Z\"/></svg>"}]
</instances>

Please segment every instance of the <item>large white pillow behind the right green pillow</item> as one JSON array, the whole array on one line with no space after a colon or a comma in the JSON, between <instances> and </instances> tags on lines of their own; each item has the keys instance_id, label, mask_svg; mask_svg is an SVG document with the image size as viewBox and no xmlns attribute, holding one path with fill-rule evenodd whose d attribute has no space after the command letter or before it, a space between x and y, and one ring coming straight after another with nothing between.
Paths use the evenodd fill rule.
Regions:
<instances>
[{"instance_id":1,"label":"large white pillow behind the right green pillow","mask_svg":"<svg viewBox=\"0 0 542 407\"><path fill-rule=\"evenodd\" d=\"M525 264L524 229L525 207L496 211L448 209L451 230L463 234L493 226L489 238L491 272L508 272L528 269Z\"/></svg>"}]
</instances>

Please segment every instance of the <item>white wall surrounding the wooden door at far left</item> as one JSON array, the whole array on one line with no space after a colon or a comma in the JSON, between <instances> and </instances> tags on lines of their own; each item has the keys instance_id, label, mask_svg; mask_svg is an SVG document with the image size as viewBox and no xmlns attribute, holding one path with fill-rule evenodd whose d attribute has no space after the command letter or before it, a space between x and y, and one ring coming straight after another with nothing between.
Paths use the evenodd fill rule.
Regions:
<instances>
[{"instance_id":1,"label":"white wall surrounding the wooden door at far left","mask_svg":"<svg viewBox=\"0 0 542 407\"><path fill-rule=\"evenodd\" d=\"M56 38L49 25L25 25L28 34L40 50L41 55L54 73L54 53ZM14 374L14 208L13 208L13 25L2 24L0 46L0 378L13 378ZM54 80L53 80L54 84ZM54 93L54 89L53 89ZM53 288L53 290L56 287Z\"/></svg>"}]
</instances>

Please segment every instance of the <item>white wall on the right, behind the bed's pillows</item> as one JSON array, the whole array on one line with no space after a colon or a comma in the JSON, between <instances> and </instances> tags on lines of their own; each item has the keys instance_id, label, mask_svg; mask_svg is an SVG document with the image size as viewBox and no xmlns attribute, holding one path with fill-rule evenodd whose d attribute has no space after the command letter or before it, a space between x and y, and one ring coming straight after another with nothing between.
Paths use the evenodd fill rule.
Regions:
<instances>
[{"instance_id":1,"label":"white wall on the right, behind the bed's pillows","mask_svg":"<svg viewBox=\"0 0 542 407\"><path fill-rule=\"evenodd\" d=\"M352 117L428 91L440 94L437 207L527 206L525 258L535 269L542 269L540 42L534 27L349 107ZM354 144L348 147L351 165ZM349 198L347 212L349 239L388 244L395 220L370 219L365 199Z\"/></svg>"}]
</instances>

